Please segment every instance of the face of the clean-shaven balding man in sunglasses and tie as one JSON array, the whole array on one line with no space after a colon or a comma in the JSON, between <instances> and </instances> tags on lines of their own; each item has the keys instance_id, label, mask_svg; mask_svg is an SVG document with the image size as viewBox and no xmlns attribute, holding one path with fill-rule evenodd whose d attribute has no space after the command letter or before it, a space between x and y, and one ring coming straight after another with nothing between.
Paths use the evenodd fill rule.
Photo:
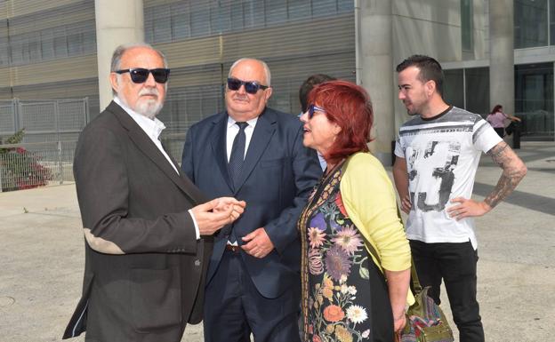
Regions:
<instances>
[{"instance_id":1,"label":"face of the clean-shaven balding man in sunglasses and tie","mask_svg":"<svg viewBox=\"0 0 555 342\"><path fill-rule=\"evenodd\" d=\"M237 64L230 72L229 77L237 78L245 82L255 81L261 85L268 85L264 67L257 60L244 60ZM266 107L272 89L259 89L255 94L245 91L245 85L241 85L237 91L226 87L226 106L228 114L234 120L244 122L261 115Z\"/></svg>"}]
</instances>

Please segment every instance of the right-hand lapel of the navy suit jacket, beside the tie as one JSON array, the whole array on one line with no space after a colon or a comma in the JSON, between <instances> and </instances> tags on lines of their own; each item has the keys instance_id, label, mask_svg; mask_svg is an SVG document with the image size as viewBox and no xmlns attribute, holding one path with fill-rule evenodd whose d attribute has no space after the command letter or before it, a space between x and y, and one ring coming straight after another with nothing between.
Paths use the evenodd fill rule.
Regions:
<instances>
[{"instance_id":1,"label":"right-hand lapel of the navy suit jacket, beside the tie","mask_svg":"<svg viewBox=\"0 0 555 342\"><path fill-rule=\"evenodd\" d=\"M254 127L253 137L249 143L248 150L245 155L245 163L241 169L241 177L235 189L235 194L245 184L245 180L253 171L254 167L260 160L262 154L268 147L269 140L271 140L274 132L276 131L276 118L273 113L266 109L262 115L258 117L256 126Z\"/></svg>"}]
</instances>

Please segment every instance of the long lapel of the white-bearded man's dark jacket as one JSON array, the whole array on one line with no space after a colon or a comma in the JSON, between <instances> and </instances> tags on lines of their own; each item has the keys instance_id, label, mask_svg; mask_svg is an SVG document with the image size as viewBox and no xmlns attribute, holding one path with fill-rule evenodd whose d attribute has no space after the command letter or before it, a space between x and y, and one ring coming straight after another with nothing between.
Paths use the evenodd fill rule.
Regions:
<instances>
[{"instance_id":1,"label":"long lapel of the white-bearded man's dark jacket","mask_svg":"<svg viewBox=\"0 0 555 342\"><path fill-rule=\"evenodd\" d=\"M152 142L147 133L145 133L145 131L143 131L141 127L135 123L130 115L125 113L125 110L122 107L119 107L115 102L111 102L109 107L106 109L116 115L117 120L128 131L129 138L133 140L133 143L141 150L141 152L144 155L147 155L149 159L155 163L169 179L172 179L173 183L180 187L185 195L189 196L193 203L205 202L205 196L202 195L200 190L198 190L198 188L195 187L189 179L181 177L180 174L173 170L172 165L167 159L165 159L165 156ZM179 168L177 170L179 170Z\"/></svg>"}]
</instances>

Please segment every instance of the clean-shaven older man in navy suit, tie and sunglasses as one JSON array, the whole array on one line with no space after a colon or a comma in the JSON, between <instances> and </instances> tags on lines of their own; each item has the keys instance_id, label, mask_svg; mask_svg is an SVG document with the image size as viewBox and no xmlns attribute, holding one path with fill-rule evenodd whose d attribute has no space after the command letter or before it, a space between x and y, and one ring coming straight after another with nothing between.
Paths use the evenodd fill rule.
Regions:
<instances>
[{"instance_id":1,"label":"clean-shaven older man in navy suit, tie and sunglasses","mask_svg":"<svg viewBox=\"0 0 555 342\"><path fill-rule=\"evenodd\" d=\"M193 125L181 168L206 195L232 195L245 212L216 236L205 292L205 341L299 341L297 219L321 176L302 123L266 107L261 60L229 69L227 110ZM237 152L238 151L238 152ZM238 156L237 156L238 155Z\"/></svg>"}]
</instances>

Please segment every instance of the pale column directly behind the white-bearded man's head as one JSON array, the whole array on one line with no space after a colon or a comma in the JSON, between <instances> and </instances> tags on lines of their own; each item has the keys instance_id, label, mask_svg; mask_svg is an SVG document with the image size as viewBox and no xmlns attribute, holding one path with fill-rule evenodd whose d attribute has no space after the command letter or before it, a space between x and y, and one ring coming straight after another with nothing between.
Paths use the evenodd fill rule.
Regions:
<instances>
[{"instance_id":1,"label":"pale column directly behind the white-bearded man's head","mask_svg":"<svg viewBox=\"0 0 555 342\"><path fill-rule=\"evenodd\" d=\"M120 44L144 42L142 0L94 0L96 51L101 110L112 99L109 84L112 53Z\"/></svg>"}]
</instances>

